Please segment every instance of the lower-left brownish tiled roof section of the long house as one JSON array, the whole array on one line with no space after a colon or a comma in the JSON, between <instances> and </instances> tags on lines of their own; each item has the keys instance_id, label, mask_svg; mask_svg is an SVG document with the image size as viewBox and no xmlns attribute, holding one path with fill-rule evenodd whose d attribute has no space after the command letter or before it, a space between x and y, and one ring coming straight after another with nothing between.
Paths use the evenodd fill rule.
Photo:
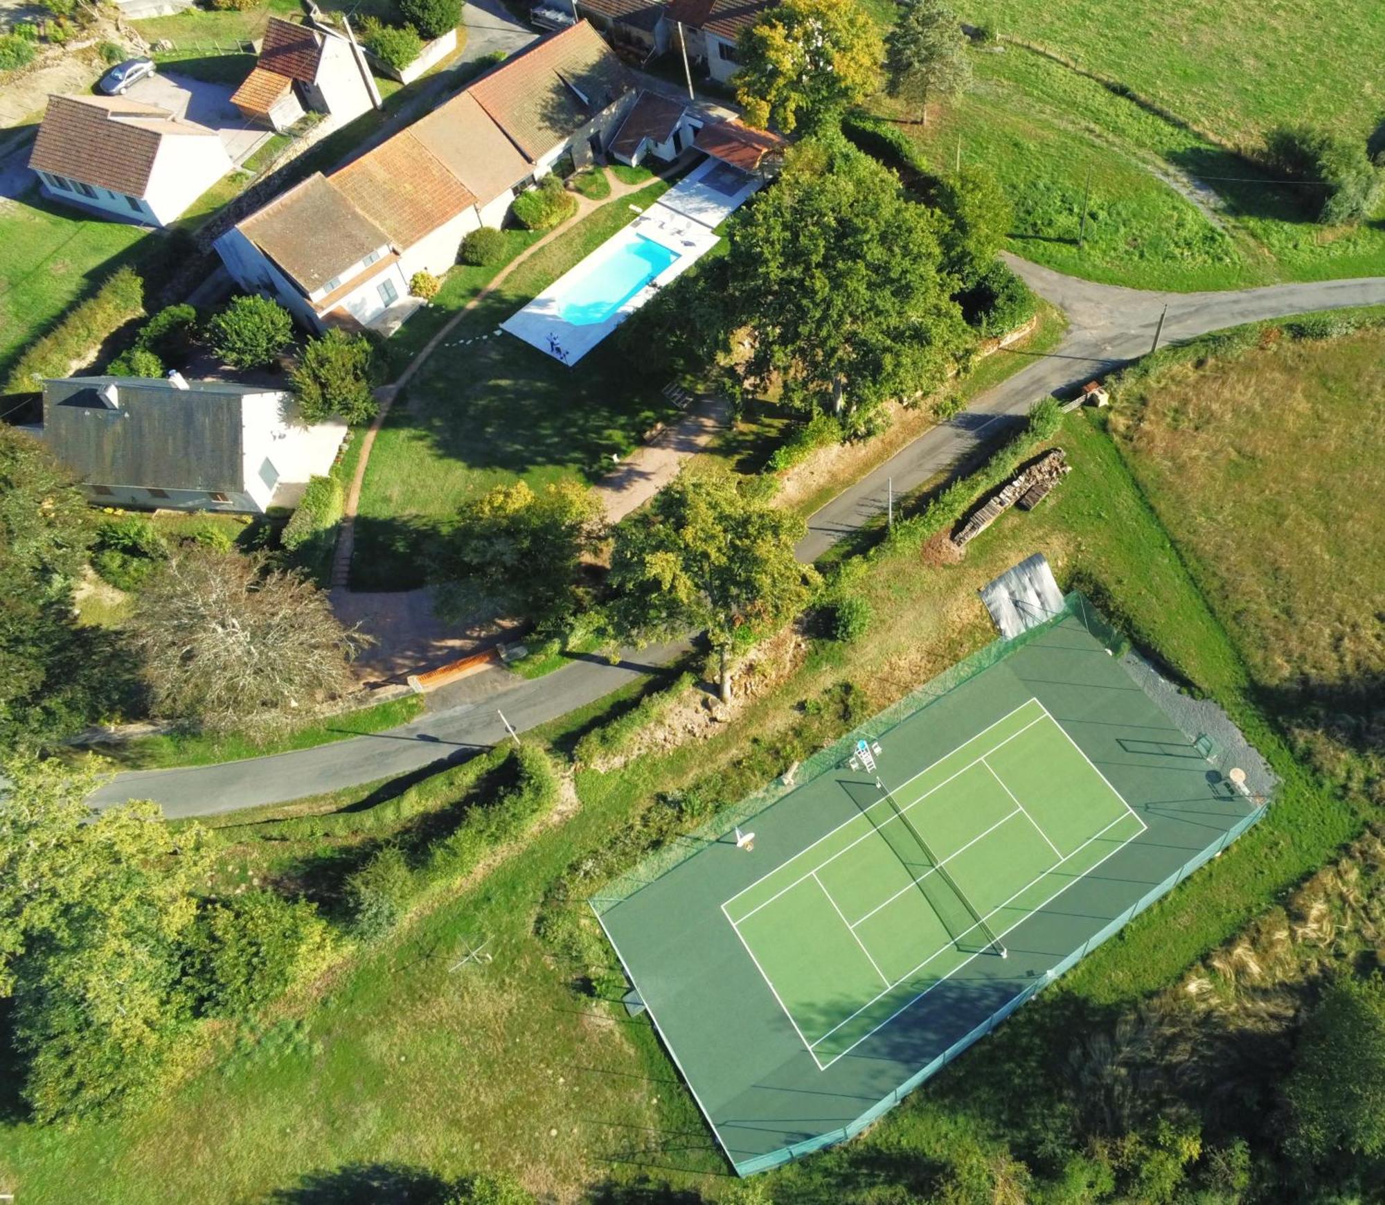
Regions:
<instances>
[{"instance_id":1,"label":"lower-left brownish tiled roof section of the long house","mask_svg":"<svg viewBox=\"0 0 1385 1205\"><path fill-rule=\"evenodd\" d=\"M389 242L389 235L320 172L235 229L305 292L321 288Z\"/></svg>"}]
</instances>

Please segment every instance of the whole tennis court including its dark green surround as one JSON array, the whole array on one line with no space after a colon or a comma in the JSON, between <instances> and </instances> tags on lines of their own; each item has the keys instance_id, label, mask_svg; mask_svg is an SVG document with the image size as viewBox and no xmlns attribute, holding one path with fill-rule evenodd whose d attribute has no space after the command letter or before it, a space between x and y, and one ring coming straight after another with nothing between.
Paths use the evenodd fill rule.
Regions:
<instances>
[{"instance_id":1,"label":"whole tennis court including its dark green surround","mask_svg":"<svg viewBox=\"0 0 1385 1205\"><path fill-rule=\"evenodd\" d=\"M737 1172L859 1133L1263 814L1116 644L1069 596L591 902Z\"/></svg>"}]
</instances>

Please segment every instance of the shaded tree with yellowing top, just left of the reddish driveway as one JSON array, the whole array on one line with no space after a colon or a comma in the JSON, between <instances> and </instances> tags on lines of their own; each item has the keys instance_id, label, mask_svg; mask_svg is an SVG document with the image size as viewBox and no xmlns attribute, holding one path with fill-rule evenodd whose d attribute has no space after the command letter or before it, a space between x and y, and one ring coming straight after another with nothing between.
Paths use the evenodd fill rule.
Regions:
<instances>
[{"instance_id":1,"label":"shaded tree with yellowing top, just left of the reddish driveway","mask_svg":"<svg viewBox=\"0 0 1385 1205\"><path fill-rule=\"evenodd\" d=\"M562 619L578 604L583 558L601 537L601 504L578 482L537 493L522 481L468 500L443 539L434 578L439 611Z\"/></svg>"}]
</instances>

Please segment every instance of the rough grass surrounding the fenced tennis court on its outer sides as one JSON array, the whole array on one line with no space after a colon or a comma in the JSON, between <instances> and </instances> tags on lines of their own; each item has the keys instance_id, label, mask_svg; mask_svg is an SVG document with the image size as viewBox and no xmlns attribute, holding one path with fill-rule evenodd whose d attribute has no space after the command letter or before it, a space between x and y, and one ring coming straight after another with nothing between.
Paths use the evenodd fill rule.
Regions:
<instances>
[{"instance_id":1,"label":"rough grass surrounding the fenced tennis court on its outer sides","mask_svg":"<svg viewBox=\"0 0 1385 1205\"><path fill-rule=\"evenodd\" d=\"M666 792L701 784L716 799L734 799L839 731L845 716L824 701L843 683L874 709L989 641L975 590L1032 551L1043 551L1062 582L1102 596L1170 672L1223 702L1285 777L1283 798L1228 855L1094 952L927 1093L838 1154L776 1172L765 1186L784 1201L849 1199L882 1175L927 1175L899 1168L906 1158L917 1163L922 1129L943 1125L974 1141L1003 1127L1008 1109L1047 1107L1054 1080L1017 1079L1014 1066L1061 1060L1073 1029L1055 1025L1055 1010L1082 1015L1172 982L1360 824L1295 766L1258 711L1238 650L1101 424L1071 416L1058 442L1073 464L1058 492L1032 514L1006 515L963 562L929 565L910 547L877 557L856 587L875 616L866 640L814 647L702 740L620 770L579 771L580 810L391 947L352 961L320 999L285 1012L259 1047L244 1040L240 1053L157 1107L65 1132L10 1123L0 1130L4 1187L33 1202L82 1199L97 1184L112 1205L262 1199L274 1191L287 1198L309 1188L337 1199L332 1193L339 1197L349 1180L334 1169L370 1163L418 1176L510 1169L560 1199L723 1195L724 1166L648 1024L573 994L569 981L584 968L535 935L535 913L575 862L637 845L636 817L662 809L654 801ZM604 711L623 706L602 701L526 740L562 756ZM248 856L244 848L233 855ZM298 856L312 857L310 846ZM324 848L323 856L339 855ZM580 900L571 906L583 914ZM479 939L490 940L494 961L475 974L450 971L460 943Z\"/></svg>"}]
</instances>

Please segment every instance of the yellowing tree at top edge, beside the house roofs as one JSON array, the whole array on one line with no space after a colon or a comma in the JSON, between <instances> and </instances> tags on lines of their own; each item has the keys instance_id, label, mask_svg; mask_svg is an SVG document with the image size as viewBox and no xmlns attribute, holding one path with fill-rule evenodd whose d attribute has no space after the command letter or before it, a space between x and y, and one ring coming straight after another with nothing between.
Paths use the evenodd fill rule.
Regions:
<instances>
[{"instance_id":1,"label":"yellowing tree at top edge, beside the house roofs","mask_svg":"<svg viewBox=\"0 0 1385 1205\"><path fill-rule=\"evenodd\" d=\"M784 0L742 30L733 83L752 126L819 129L879 87L882 53L856 0Z\"/></svg>"}]
</instances>

